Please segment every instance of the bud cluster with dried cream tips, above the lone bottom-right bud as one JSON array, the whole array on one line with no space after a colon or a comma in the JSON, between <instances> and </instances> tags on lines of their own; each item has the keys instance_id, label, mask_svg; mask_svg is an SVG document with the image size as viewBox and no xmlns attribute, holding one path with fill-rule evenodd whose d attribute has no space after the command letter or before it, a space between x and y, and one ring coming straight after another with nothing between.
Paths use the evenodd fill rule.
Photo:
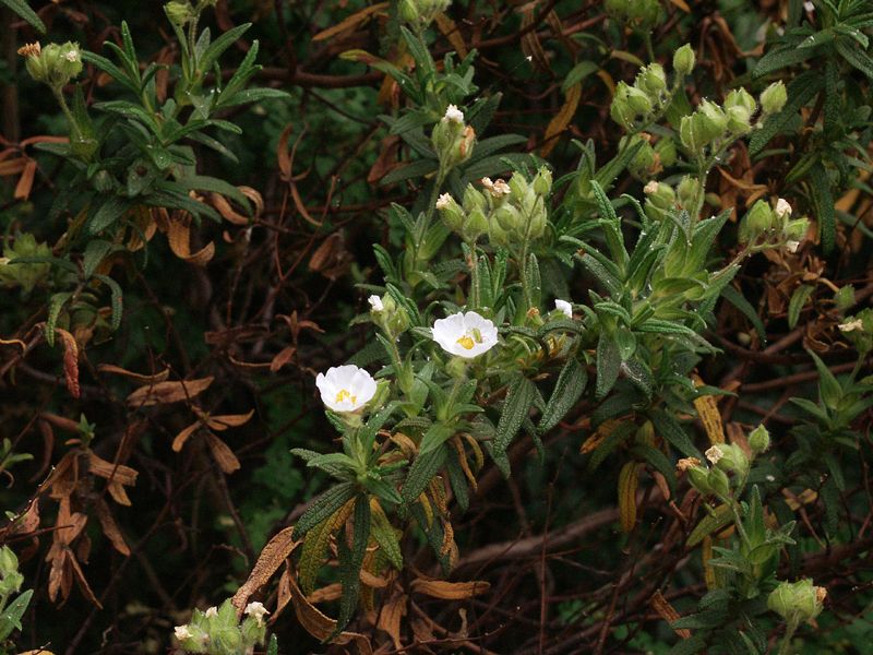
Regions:
<instances>
[{"instance_id":1,"label":"bud cluster with dried cream tips, above the lone bottom-right bud","mask_svg":"<svg viewBox=\"0 0 873 655\"><path fill-rule=\"evenodd\" d=\"M723 499L730 496L728 476L732 475L734 479L744 483L752 461L769 445L770 436L767 428L758 426L749 434L751 457L736 443L718 443L705 453L710 466L696 457L686 457L679 461L677 468L685 473L692 487L702 495L714 495Z\"/></svg>"}]
</instances>

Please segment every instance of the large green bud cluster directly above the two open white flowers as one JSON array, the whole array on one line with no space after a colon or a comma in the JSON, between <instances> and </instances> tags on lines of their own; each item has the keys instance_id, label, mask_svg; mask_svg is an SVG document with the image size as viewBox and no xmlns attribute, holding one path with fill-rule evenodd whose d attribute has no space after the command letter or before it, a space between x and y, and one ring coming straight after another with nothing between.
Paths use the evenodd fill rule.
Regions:
<instances>
[{"instance_id":1,"label":"large green bud cluster directly above the two open white flowers","mask_svg":"<svg viewBox=\"0 0 873 655\"><path fill-rule=\"evenodd\" d=\"M487 234L499 246L511 246L546 234L546 200L552 189L552 174L545 166L528 181L521 171L510 181L481 180L482 191L468 184L461 204L444 193L436 201L445 225L465 241L474 242Z\"/></svg>"}]
</instances>

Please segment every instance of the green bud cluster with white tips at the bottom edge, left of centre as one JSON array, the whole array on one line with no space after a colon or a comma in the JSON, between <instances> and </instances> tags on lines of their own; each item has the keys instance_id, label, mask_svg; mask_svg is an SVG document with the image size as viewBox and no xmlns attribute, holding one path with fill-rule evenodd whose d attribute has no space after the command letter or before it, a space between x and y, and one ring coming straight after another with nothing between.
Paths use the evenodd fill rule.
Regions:
<instances>
[{"instance_id":1,"label":"green bud cluster with white tips at the bottom edge, left of centre","mask_svg":"<svg viewBox=\"0 0 873 655\"><path fill-rule=\"evenodd\" d=\"M237 620L237 610L228 598L220 607L211 607L206 611L195 609L190 623L176 627L176 640L189 653L251 653L254 646L264 643L264 616L270 612L261 603L249 603L246 618L240 623Z\"/></svg>"}]
</instances>

